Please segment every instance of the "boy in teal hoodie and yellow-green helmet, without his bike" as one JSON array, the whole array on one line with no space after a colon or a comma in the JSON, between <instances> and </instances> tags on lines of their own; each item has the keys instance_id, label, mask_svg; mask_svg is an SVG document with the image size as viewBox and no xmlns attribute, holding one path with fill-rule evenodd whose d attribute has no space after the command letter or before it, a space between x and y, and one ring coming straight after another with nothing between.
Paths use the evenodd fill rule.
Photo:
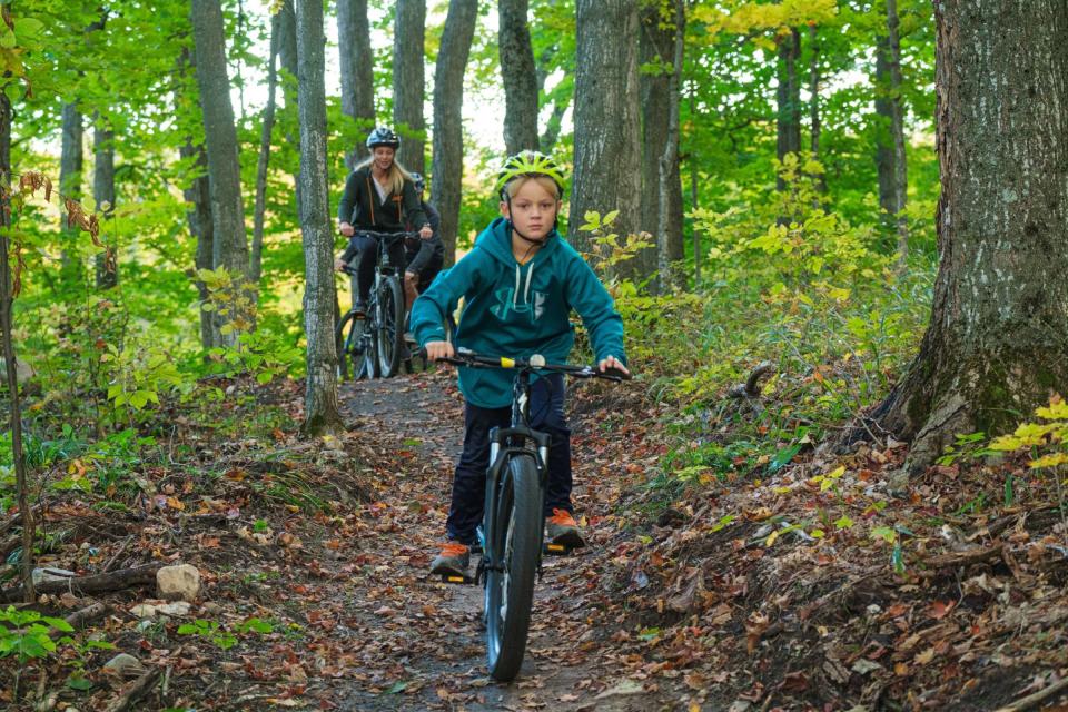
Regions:
<instances>
[{"instance_id":1,"label":"boy in teal hoodie and yellow-green helmet, without his bike","mask_svg":"<svg viewBox=\"0 0 1068 712\"><path fill-rule=\"evenodd\" d=\"M563 363L574 334L572 309L582 317L597 367L624 374L623 320L596 275L556 231L563 171L547 156L523 151L505 160L497 177L501 215L475 248L443 273L415 301L412 330L427 358L454 355L443 323L464 297L456 345L485 354L534 354ZM435 574L463 574L482 520L490 431L510 422L512 377L503 370L459 368L464 394L464 451L453 476L448 542L431 564ZM571 431L564 417L564 379L537 377L531 393L531 427L552 436L545 493L548 543L584 543L571 504Z\"/></svg>"}]
</instances>

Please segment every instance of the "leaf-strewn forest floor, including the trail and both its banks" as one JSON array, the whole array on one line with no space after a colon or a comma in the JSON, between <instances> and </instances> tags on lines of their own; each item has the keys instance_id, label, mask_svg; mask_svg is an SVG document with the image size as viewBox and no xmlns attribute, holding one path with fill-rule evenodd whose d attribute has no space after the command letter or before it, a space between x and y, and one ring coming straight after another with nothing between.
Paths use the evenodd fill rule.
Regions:
<instances>
[{"instance_id":1,"label":"leaf-strewn forest floor, including the trail and both its banks","mask_svg":"<svg viewBox=\"0 0 1068 712\"><path fill-rule=\"evenodd\" d=\"M340 393L342 438L220 437L175 414L168 457L140 468L130 506L50 501L40 565L187 563L204 587L188 611L161 612L151 584L43 595L49 615L110 607L78 645L0 663L0 706L859 712L1068 700L1068 528L1049 483L1006 461L941 466L891 493L906 448L887 441L810 449L770 477L759 467L688 484L657 474L664 454L716 435L708 424L669 435L661 424L678 412L636 383L572 390L590 546L546 561L521 675L496 684L482 590L427 573L462 441L452 375ZM296 424L301 395L270 386L257 407ZM106 673L119 652L144 668Z\"/></svg>"}]
</instances>

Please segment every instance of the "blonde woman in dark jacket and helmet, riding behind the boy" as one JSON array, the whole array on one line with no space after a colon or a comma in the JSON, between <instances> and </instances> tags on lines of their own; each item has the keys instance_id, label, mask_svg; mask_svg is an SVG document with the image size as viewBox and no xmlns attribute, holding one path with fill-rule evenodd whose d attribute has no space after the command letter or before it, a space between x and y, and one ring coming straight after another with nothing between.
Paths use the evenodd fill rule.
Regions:
<instances>
[{"instance_id":1,"label":"blonde woman in dark jacket and helmet, riding behind the boy","mask_svg":"<svg viewBox=\"0 0 1068 712\"><path fill-rule=\"evenodd\" d=\"M342 270L359 255L356 294L353 308L363 314L367 296L375 280L378 240L360 230L402 233L405 224L419 226L419 235L431 238L433 231L412 182L412 175L395 159L400 138L390 129L378 127L367 136L370 157L358 165L345 181L345 192L337 209L337 226L342 235L352 238L334 267ZM404 245L390 248L389 259L403 265Z\"/></svg>"}]
</instances>

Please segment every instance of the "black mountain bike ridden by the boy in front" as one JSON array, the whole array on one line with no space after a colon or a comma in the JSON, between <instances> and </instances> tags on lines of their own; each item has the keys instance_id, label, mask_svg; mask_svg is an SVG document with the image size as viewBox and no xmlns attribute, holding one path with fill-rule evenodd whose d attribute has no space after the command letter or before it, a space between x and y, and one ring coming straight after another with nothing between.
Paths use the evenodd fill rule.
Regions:
<instances>
[{"instance_id":1,"label":"black mountain bike ridden by the boy in front","mask_svg":"<svg viewBox=\"0 0 1068 712\"><path fill-rule=\"evenodd\" d=\"M601 373L593 366L546 364L538 355L530 359L490 357L465 348L456 349L456 355L445 360L457 366L517 369L512 387L512 424L490 432L486 503L478 527L482 558L474 576L444 577L451 583L483 582L490 675L507 682L518 674L526 651L534 578L542 573L542 554L570 553L558 544L543 545L550 435L530 426L531 375L560 373L616 382L627 376L616 370Z\"/></svg>"}]
</instances>

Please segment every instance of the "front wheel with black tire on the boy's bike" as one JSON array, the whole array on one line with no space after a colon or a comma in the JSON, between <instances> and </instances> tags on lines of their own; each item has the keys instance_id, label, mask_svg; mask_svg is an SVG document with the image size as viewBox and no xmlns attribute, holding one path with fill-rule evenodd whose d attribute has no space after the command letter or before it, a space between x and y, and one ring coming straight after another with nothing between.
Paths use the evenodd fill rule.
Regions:
<instances>
[{"instance_id":1,"label":"front wheel with black tire on the boy's bike","mask_svg":"<svg viewBox=\"0 0 1068 712\"><path fill-rule=\"evenodd\" d=\"M496 532L496 541L487 545L501 566L486 572L486 661L491 678L508 682L523 664L541 553L542 492L533 457L508 461L494 510L486 516L496 525L486 531Z\"/></svg>"}]
</instances>

